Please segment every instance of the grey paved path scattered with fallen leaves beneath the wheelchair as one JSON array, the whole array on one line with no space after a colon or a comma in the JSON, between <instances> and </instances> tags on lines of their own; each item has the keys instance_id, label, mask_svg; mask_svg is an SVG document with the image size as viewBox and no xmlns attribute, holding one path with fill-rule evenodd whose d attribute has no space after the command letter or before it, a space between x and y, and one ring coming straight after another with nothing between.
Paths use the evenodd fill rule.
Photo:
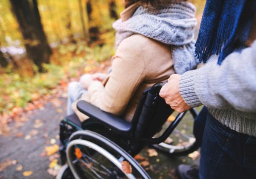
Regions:
<instances>
[{"instance_id":1,"label":"grey paved path scattered with fallen leaves beneath the wheelchair","mask_svg":"<svg viewBox=\"0 0 256 179\"><path fill-rule=\"evenodd\" d=\"M44 106L44 109L34 110L29 120L24 122L19 129L15 130L17 124L12 123L10 124L10 128L12 129L10 135L0 136L0 163L5 162L6 159L17 161L17 164L12 164L0 172L0 178L54 178L47 173L47 169L49 168L48 157L41 156L41 153L44 152L45 147L52 145L50 144L51 139L58 139L58 124L65 116L66 99L59 98L58 102L60 102L60 106L56 108L49 101ZM17 133L23 133L24 135L18 136ZM30 139L29 136L31 136ZM141 152L141 155L148 156L146 149ZM168 157L159 153L158 156L150 158L149 162L154 170L148 171L148 173L152 178L158 179L160 176L162 178L173 178L173 169L178 164L192 163L192 160L187 156ZM19 165L23 166L21 171L16 170ZM25 170L31 170L33 174L24 177L22 173Z\"/></svg>"}]
</instances>

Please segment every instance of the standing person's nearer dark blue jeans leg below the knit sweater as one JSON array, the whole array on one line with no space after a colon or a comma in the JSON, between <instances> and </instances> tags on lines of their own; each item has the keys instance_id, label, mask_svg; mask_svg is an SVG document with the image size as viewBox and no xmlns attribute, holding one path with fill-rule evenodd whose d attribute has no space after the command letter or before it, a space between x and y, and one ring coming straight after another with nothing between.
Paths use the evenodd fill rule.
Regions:
<instances>
[{"instance_id":1,"label":"standing person's nearer dark blue jeans leg below the knit sweater","mask_svg":"<svg viewBox=\"0 0 256 179\"><path fill-rule=\"evenodd\" d=\"M256 137L238 133L207 113L200 179L256 179Z\"/></svg>"}]
</instances>

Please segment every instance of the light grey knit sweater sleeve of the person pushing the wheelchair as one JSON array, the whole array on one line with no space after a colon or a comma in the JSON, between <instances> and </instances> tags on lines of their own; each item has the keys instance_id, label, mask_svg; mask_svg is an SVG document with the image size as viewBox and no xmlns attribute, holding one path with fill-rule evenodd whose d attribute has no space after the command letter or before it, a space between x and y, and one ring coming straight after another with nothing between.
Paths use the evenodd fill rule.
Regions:
<instances>
[{"instance_id":1,"label":"light grey knit sweater sleeve of the person pushing the wheelchair","mask_svg":"<svg viewBox=\"0 0 256 179\"><path fill-rule=\"evenodd\" d=\"M221 66L214 58L218 57L182 75L179 91L184 101L191 107L256 112L256 41L241 53L230 54Z\"/></svg>"}]
</instances>

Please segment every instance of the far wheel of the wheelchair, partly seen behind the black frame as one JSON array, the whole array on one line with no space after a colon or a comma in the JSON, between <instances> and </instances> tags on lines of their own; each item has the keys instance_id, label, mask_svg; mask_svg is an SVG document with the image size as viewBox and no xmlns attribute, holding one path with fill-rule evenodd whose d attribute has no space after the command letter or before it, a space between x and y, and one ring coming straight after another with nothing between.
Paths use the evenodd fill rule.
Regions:
<instances>
[{"instance_id":1,"label":"far wheel of the wheelchair, partly seen behind the black frame","mask_svg":"<svg viewBox=\"0 0 256 179\"><path fill-rule=\"evenodd\" d=\"M198 150L199 146L193 135L193 123L196 113L194 109L192 109L191 113L186 113L169 138L165 142L152 145L152 147L168 155L186 155ZM171 122L172 120L166 121L162 131ZM156 136L158 135L160 134L156 134Z\"/></svg>"}]
</instances>

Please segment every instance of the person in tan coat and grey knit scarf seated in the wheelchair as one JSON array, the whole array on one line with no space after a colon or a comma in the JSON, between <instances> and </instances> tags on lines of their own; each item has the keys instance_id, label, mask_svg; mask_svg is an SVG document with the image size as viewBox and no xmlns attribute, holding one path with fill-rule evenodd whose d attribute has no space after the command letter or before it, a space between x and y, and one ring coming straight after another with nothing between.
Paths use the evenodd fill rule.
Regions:
<instances>
[{"instance_id":1,"label":"person in tan coat and grey knit scarf seated in the wheelchair","mask_svg":"<svg viewBox=\"0 0 256 179\"><path fill-rule=\"evenodd\" d=\"M179 1L179 2L177 2ZM184 0L125 0L116 30L116 54L109 74L83 75L68 87L67 114L85 100L131 121L143 91L173 73L194 69L195 7ZM73 103L73 104L72 104ZM72 104L72 108L71 108Z\"/></svg>"}]
</instances>

